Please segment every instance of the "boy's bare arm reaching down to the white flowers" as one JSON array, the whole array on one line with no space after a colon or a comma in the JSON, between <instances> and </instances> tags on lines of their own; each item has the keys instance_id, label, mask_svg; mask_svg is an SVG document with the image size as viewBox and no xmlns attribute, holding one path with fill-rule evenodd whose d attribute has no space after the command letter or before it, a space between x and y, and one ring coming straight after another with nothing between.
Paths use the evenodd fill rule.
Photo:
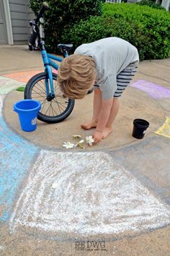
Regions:
<instances>
[{"instance_id":1,"label":"boy's bare arm reaching down to the white flowers","mask_svg":"<svg viewBox=\"0 0 170 256\"><path fill-rule=\"evenodd\" d=\"M113 98L109 98L108 100L102 101L102 108L99 114L99 119L97 121L97 128L93 134L94 141L99 142L102 140L102 132L107 124L109 119L109 114L112 108Z\"/></svg>"}]
</instances>

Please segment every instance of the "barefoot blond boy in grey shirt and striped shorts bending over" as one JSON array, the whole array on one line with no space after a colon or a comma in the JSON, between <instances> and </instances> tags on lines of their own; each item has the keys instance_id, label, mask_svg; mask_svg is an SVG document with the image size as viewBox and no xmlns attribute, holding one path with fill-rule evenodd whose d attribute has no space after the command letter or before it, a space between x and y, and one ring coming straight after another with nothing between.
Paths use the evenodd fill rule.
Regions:
<instances>
[{"instance_id":1,"label":"barefoot blond boy in grey shirt and striped shorts bending over","mask_svg":"<svg viewBox=\"0 0 170 256\"><path fill-rule=\"evenodd\" d=\"M138 68L138 50L121 38L103 38L84 43L63 59L58 69L58 85L68 98L84 98L94 85L93 116L81 124L96 128L94 142L112 132L119 111L119 98Z\"/></svg>"}]
</instances>

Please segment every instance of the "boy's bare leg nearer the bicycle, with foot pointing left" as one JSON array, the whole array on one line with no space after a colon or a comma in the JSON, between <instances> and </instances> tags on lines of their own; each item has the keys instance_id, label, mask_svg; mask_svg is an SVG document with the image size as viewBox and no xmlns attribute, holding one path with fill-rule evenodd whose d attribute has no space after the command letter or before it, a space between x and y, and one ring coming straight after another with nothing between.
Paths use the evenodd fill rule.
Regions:
<instances>
[{"instance_id":1,"label":"boy's bare leg nearer the bicycle, with foot pointing left","mask_svg":"<svg viewBox=\"0 0 170 256\"><path fill-rule=\"evenodd\" d=\"M84 129L91 129L97 127L97 121L99 118L99 112L102 106L102 93L98 88L94 90L94 103L93 103L93 116L90 121L81 124Z\"/></svg>"}]
</instances>

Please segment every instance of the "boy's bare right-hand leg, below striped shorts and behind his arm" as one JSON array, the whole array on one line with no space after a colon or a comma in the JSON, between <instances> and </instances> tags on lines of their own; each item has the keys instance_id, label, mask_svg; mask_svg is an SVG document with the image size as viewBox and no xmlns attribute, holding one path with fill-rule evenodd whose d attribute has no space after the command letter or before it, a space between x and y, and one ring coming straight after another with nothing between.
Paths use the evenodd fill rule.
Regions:
<instances>
[{"instance_id":1,"label":"boy's bare right-hand leg, below striped shorts and behind his arm","mask_svg":"<svg viewBox=\"0 0 170 256\"><path fill-rule=\"evenodd\" d=\"M120 108L120 101L119 98L113 98L112 108L109 114L109 119L107 121L106 127L103 131L103 138L106 138L110 132L112 132L112 123L115 121L117 113Z\"/></svg>"}]
</instances>

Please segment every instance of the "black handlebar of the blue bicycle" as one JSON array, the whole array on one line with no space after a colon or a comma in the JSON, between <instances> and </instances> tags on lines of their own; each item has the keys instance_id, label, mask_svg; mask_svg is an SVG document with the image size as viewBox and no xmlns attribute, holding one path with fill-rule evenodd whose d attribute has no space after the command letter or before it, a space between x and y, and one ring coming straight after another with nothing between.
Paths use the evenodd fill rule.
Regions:
<instances>
[{"instance_id":1,"label":"black handlebar of the blue bicycle","mask_svg":"<svg viewBox=\"0 0 170 256\"><path fill-rule=\"evenodd\" d=\"M32 51L35 45L35 40L37 36L40 36L39 34L39 28L37 27L37 23L39 22L40 18L42 17L43 13L48 9L48 3L43 2L42 7L40 9L40 12L38 12L37 17L35 20L30 22L30 25L32 25L32 34L30 36L29 40L29 50Z\"/></svg>"}]
</instances>

